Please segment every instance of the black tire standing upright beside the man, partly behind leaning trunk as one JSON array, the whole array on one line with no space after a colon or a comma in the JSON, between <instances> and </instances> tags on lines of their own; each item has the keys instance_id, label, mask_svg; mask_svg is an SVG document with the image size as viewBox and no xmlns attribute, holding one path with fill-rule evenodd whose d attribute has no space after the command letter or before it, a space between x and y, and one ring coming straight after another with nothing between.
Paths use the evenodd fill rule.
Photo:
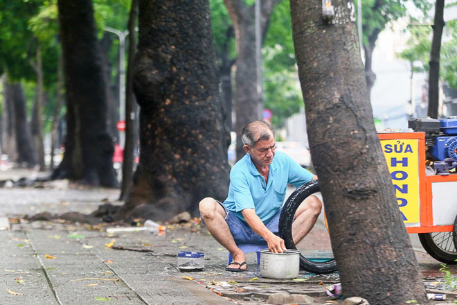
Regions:
<instances>
[{"instance_id":1,"label":"black tire standing upright beside the man, partly behind leaning trunk","mask_svg":"<svg viewBox=\"0 0 457 305\"><path fill-rule=\"evenodd\" d=\"M287 198L279 218L279 236L284 239L287 249L296 249L292 239L292 222L295 211L305 198L317 192L319 192L319 182L312 181L300 186ZM316 274L331 273L337 270L337 262L334 259L323 262L310 261L300 254L300 267Z\"/></svg>"}]
</instances>

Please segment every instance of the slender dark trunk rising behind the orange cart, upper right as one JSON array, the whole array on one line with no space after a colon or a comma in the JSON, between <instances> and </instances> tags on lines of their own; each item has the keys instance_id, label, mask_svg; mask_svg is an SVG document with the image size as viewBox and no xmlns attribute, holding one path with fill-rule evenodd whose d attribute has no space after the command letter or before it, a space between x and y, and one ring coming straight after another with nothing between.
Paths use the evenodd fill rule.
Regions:
<instances>
[{"instance_id":1,"label":"slender dark trunk rising behind the orange cart, upper right","mask_svg":"<svg viewBox=\"0 0 457 305\"><path fill-rule=\"evenodd\" d=\"M429 61L429 110L427 116L438 119L438 104L440 96L440 50L442 28L445 26L443 18L445 0L436 0L435 18L433 20L433 38L431 40L430 61Z\"/></svg>"}]
</instances>

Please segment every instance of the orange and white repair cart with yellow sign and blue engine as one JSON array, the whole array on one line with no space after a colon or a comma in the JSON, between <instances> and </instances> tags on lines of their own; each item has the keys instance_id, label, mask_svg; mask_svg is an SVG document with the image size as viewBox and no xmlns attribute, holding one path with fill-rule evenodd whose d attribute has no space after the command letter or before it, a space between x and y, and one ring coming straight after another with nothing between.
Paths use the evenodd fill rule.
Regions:
<instances>
[{"instance_id":1,"label":"orange and white repair cart with yellow sign and blue engine","mask_svg":"<svg viewBox=\"0 0 457 305\"><path fill-rule=\"evenodd\" d=\"M406 231L433 258L456 263L457 119L411 119L409 128L379 133Z\"/></svg>"}]
</instances>

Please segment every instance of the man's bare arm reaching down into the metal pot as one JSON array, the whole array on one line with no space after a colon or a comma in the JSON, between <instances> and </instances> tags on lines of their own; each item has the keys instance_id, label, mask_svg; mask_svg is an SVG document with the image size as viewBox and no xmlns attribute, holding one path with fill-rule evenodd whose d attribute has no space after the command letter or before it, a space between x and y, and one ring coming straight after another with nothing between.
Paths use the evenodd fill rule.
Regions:
<instances>
[{"instance_id":1,"label":"man's bare arm reaching down into the metal pot","mask_svg":"<svg viewBox=\"0 0 457 305\"><path fill-rule=\"evenodd\" d=\"M241 211L243 214L244 220L248 223L249 227L253 229L253 232L256 232L267 241L268 249L273 253L283 253L287 250L284 244L283 238L276 236L271 232L260 220L259 216L256 214L254 209L244 209Z\"/></svg>"}]
</instances>

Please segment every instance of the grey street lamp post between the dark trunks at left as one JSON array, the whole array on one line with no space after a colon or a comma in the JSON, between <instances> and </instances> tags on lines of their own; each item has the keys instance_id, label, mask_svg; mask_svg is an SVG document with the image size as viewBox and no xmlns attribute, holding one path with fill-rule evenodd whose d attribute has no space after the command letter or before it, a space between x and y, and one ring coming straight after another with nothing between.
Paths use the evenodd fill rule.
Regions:
<instances>
[{"instance_id":1,"label":"grey street lamp post between the dark trunks at left","mask_svg":"<svg viewBox=\"0 0 457 305\"><path fill-rule=\"evenodd\" d=\"M109 33L114 33L119 39L119 121L125 123L125 38L129 35L128 30L117 30L116 28L105 27ZM125 133L119 131L119 146L125 146Z\"/></svg>"}]
</instances>

